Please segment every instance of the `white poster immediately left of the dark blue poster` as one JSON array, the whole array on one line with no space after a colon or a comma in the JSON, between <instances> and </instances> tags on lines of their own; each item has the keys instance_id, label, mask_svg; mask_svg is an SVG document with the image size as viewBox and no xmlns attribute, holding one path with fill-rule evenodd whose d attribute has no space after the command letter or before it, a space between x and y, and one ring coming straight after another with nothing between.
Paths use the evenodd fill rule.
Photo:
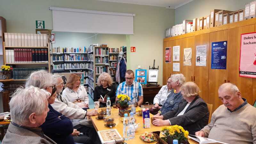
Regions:
<instances>
[{"instance_id":1,"label":"white poster immediately left of the dark blue poster","mask_svg":"<svg viewBox=\"0 0 256 144\"><path fill-rule=\"evenodd\" d=\"M206 57L207 57L207 45L197 45L196 46L196 66L206 67Z\"/></svg>"}]
</instances>

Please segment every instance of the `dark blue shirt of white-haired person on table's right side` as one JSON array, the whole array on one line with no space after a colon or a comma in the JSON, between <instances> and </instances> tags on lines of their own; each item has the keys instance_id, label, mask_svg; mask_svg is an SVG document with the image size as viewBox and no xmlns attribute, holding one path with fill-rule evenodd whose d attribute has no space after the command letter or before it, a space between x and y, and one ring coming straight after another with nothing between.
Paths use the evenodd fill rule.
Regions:
<instances>
[{"instance_id":1,"label":"dark blue shirt of white-haired person on table's right side","mask_svg":"<svg viewBox=\"0 0 256 144\"><path fill-rule=\"evenodd\" d=\"M167 99L164 102L164 105L160 109L161 115L172 110L173 108L178 107L182 99L183 97L182 97L181 91L178 93L174 93L174 90L172 90L172 92L167 96Z\"/></svg>"}]
</instances>

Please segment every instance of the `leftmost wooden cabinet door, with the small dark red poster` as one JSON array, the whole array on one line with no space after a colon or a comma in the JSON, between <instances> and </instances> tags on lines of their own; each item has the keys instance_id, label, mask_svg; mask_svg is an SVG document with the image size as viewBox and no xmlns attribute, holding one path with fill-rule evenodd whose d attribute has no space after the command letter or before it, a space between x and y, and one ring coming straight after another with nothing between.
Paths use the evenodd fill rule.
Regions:
<instances>
[{"instance_id":1,"label":"leftmost wooden cabinet door, with the small dark red poster","mask_svg":"<svg viewBox=\"0 0 256 144\"><path fill-rule=\"evenodd\" d=\"M163 47L163 85L166 84L167 78L172 74L172 63L165 63L165 48L171 47L172 41L164 42Z\"/></svg>"}]
</instances>

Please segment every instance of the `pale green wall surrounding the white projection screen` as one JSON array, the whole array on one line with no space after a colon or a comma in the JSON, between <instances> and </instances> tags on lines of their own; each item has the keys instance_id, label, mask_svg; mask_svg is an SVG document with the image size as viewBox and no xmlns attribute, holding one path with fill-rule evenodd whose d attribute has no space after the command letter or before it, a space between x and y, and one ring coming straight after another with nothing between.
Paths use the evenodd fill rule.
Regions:
<instances>
[{"instance_id":1,"label":"pale green wall surrounding the white projection screen","mask_svg":"<svg viewBox=\"0 0 256 144\"><path fill-rule=\"evenodd\" d=\"M148 66L153 65L153 60L156 59L156 66L159 65L160 68L158 82L162 84L164 30L174 25L174 9L96 0L0 0L0 15L7 21L7 32L35 33L36 20L45 20L46 29L52 29L52 11L49 10L49 6L135 13L134 35L102 34L97 36L97 42L104 41L104 43L108 43L109 46L113 47L126 45L128 48L127 68L132 70L135 70L138 65L141 68L148 69ZM58 37L68 38L73 34L57 33L56 44L58 43L57 41L60 41L63 43L59 46L68 45L69 43L66 40L59 40ZM75 37L77 38L80 35L78 34ZM87 35L91 34L84 34L83 37ZM73 36L68 40L74 40ZM70 41L70 44L75 44L76 41L77 39L75 42ZM86 42L78 43L86 44ZM57 46L56 44L54 46ZM136 47L135 53L129 53L130 46Z\"/></svg>"}]
</instances>

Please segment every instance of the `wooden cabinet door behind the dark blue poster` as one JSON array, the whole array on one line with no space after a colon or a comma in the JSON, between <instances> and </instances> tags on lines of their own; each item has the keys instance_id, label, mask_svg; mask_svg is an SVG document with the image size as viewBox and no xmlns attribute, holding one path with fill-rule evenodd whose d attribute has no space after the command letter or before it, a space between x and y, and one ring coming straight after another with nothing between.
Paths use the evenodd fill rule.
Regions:
<instances>
[{"instance_id":1,"label":"wooden cabinet door behind the dark blue poster","mask_svg":"<svg viewBox=\"0 0 256 144\"><path fill-rule=\"evenodd\" d=\"M226 69L212 69L212 42L220 42L228 40L228 30L221 30L210 33L210 52L209 52L209 96L208 102L213 104L213 111L216 110L222 102L218 98L218 89L221 84L227 82L227 70ZM229 44L229 42L228 42ZM227 57L228 59L228 57Z\"/></svg>"}]
</instances>

